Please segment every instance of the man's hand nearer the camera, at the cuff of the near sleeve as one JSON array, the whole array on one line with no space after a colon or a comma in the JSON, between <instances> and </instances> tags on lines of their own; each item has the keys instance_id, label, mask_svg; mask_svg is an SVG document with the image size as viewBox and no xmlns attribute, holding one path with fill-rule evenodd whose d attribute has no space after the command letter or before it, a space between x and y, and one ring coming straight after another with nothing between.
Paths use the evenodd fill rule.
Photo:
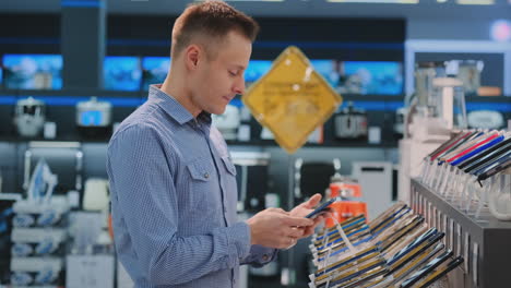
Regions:
<instances>
[{"instance_id":1,"label":"man's hand nearer the camera, at the cuff of the near sleeve","mask_svg":"<svg viewBox=\"0 0 511 288\"><path fill-rule=\"evenodd\" d=\"M302 216L292 216L281 208L268 208L248 219L247 224L250 227L251 244L284 249L304 238L304 231L314 221Z\"/></svg>"}]
</instances>

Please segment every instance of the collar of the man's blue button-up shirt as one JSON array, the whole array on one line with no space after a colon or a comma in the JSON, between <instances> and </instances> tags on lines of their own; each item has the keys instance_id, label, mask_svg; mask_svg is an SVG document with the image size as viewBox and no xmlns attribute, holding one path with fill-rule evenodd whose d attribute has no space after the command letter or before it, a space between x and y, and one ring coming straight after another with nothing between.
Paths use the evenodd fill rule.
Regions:
<instances>
[{"instance_id":1,"label":"collar of the man's blue button-up shirt","mask_svg":"<svg viewBox=\"0 0 511 288\"><path fill-rule=\"evenodd\" d=\"M156 103L168 116L174 118L179 124L187 123L193 120L193 116L173 96L166 94L161 89L162 84L150 85L148 99ZM211 124L211 113L202 111L197 117L197 120Z\"/></svg>"}]
</instances>

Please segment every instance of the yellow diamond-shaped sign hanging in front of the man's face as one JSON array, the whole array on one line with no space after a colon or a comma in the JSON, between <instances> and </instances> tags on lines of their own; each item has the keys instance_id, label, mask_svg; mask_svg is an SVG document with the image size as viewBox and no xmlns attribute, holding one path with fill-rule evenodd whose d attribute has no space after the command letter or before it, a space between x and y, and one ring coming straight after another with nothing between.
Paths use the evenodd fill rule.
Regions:
<instances>
[{"instance_id":1,"label":"yellow diamond-shaped sign hanging in front of the man's face","mask_svg":"<svg viewBox=\"0 0 511 288\"><path fill-rule=\"evenodd\" d=\"M284 50L272 69L242 97L253 117L275 135L287 153L294 153L308 135L337 109L341 96L313 70L294 46Z\"/></svg>"}]
</instances>

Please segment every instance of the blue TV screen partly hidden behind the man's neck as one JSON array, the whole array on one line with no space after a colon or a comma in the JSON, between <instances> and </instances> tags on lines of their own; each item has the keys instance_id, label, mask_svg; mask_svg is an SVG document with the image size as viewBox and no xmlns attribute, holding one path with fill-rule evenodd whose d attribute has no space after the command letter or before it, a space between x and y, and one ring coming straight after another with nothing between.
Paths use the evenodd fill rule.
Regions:
<instances>
[{"instance_id":1,"label":"blue TV screen partly hidden behind the man's neck","mask_svg":"<svg viewBox=\"0 0 511 288\"><path fill-rule=\"evenodd\" d=\"M147 91L150 85L163 83L169 68L169 57L142 58L142 88Z\"/></svg>"}]
</instances>

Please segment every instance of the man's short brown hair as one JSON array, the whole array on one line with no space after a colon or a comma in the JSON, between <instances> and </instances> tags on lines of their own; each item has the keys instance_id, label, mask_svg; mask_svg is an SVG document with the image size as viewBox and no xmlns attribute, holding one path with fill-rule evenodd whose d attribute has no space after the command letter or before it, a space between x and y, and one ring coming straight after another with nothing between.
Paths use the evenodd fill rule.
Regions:
<instances>
[{"instance_id":1,"label":"man's short brown hair","mask_svg":"<svg viewBox=\"0 0 511 288\"><path fill-rule=\"evenodd\" d=\"M174 24L170 56L177 57L195 36L221 40L231 31L237 31L253 41L259 33L259 24L222 1L191 4Z\"/></svg>"}]
</instances>

